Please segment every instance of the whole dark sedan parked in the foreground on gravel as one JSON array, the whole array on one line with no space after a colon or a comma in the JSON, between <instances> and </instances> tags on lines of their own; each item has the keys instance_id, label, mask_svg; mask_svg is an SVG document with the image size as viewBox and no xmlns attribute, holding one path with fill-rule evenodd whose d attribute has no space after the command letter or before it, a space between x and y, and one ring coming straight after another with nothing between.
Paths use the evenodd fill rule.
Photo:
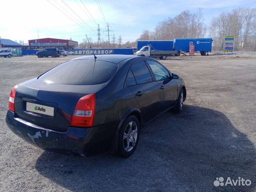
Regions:
<instances>
[{"instance_id":1,"label":"whole dark sedan parked in the foreground on gravel","mask_svg":"<svg viewBox=\"0 0 256 192\"><path fill-rule=\"evenodd\" d=\"M168 110L180 112L185 99L182 78L152 58L83 56L14 86L6 123L45 150L128 157L142 126Z\"/></svg>"}]
</instances>

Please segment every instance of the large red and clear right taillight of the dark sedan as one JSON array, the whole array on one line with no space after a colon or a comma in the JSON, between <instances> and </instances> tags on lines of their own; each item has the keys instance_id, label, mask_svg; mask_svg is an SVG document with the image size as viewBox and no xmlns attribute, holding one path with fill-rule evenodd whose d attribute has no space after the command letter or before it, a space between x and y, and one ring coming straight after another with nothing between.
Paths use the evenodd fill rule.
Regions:
<instances>
[{"instance_id":1,"label":"large red and clear right taillight of the dark sedan","mask_svg":"<svg viewBox=\"0 0 256 192\"><path fill-rule=\"evenodd\" d=\"M76 104L76 108L70 121L70 126L92 127L94 125L95 110L95 94L83 96Z\"/></svg>"}]
</instances>

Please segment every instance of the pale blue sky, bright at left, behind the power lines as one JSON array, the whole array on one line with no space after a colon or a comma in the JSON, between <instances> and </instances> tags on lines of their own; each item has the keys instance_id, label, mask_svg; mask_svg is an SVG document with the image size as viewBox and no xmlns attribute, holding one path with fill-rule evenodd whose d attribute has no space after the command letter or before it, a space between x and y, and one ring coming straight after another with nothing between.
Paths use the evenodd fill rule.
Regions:
<instances>
[{"instance_id":1,"label":"pale blue sky, bright at left, behind the power lines","mask_svg":"<svg viewBox=\"0 0 256 192\"><path fill-rule=\"evenodd\" d=\"M0 36L11 40L38 38L61 38L82 42L85 34L94 41L98 39L100 24L101 38L106 39L106 22L96 2L98 0L4 0L1 1ZM99 0L106 21L115 36L122 36L122 42L134 41L144 29L154 30L156 24L168 17L174 17L183 10L196 12L203 8L208 24L212 17L238 7L256 8L256 0ZM66 3L72 10L70 10ZM89 10L93 19L90 18ZM86 15L87 14L87 15ZM73 17L72 17L72 16ZM83 20L81 20L79 17ZM80 24L76 24L75 22ZM82 26L82 27L81 27ZM112 35L113 32L110 32Z\"/></svg>"}]
</instances>

